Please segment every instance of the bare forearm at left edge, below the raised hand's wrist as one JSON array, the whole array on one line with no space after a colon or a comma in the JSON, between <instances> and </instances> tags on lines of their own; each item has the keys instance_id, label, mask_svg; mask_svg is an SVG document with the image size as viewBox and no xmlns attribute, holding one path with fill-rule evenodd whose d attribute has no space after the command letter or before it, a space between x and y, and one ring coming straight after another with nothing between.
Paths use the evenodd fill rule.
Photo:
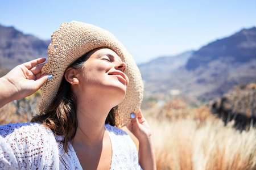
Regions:
<instances>
[{"instance_id":1,"label":"bare forearm at left edge, below the raised hand's wrist","mask_svg":"<svg viewBox=\"0 0 256 170\"><path fill-rule=\"evenodd\" d=\"M4 76L0 78L0 108L15 100L15 87Z\"/></svg>"}]
</instances>

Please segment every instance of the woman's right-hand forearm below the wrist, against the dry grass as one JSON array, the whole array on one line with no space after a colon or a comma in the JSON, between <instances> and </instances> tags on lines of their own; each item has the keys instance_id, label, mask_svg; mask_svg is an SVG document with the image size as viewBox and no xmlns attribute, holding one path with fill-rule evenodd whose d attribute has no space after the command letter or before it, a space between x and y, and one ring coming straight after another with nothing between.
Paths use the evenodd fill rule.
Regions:
<instances>
[{"instance_id":1,"label":"woman's right-hand forearm below the wrist, against the dry grass","mask_svg":"<svg viewBox=\"0 0 256 170\"><path fill-rule=\"evenodd\" d=\"M154 148L151 137L147 141L139 142L139 164L143 169L156 169Z\"/></svg>"}]
</instances>

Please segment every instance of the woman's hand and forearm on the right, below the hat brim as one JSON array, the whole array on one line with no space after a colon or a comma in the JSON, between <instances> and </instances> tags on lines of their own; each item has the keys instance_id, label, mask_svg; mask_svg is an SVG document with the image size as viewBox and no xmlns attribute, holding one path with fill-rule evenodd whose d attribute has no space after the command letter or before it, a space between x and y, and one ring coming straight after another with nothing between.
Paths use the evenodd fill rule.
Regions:
<instances>
[{"instance_id":1,"label":"woman's hand and forearm on the right, below the hat brim","mask_svg":"<svg viewBox=\"0 0 256 170\"><path fill-rule=\"evenodd\" d=\"M151 141L151 130L141 109L135 116L131 114L131 122L127 129L134 134L139 141L139 164L143 169L156 169L154 148Z\"/></svg>"}]
</instances>

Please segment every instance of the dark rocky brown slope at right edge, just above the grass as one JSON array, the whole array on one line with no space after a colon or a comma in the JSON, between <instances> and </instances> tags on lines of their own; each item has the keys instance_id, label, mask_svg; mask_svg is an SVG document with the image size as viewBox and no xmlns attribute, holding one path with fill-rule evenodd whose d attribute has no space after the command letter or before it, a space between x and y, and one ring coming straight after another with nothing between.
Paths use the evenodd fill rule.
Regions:
<instances>
[{"instance_id":1,"label":"dark rocky brown slope at right edge, just above the grass","mask_svg":"<svg viewBox=\"0 0 256 170\"><path fill-rule=\"evenodd\" d=\"M240 84L220 97L212 105L212 113L225 123L234 120L238 129L246 129L256 121L256 79Z\"/></svg>"}]
</instances>

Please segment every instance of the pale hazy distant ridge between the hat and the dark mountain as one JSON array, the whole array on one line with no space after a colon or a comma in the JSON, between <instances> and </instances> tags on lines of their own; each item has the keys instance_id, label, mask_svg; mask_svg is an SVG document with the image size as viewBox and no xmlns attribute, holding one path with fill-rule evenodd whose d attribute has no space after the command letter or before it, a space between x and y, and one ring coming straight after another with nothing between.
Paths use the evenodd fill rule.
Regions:
<instances>
[{"instance_id":1,"label":"pale hazy distant ridge between the hat and the dark mountain","mask_svg":"<svg viewBox=\"0 0 256 170\"><path fill-rule=\"evenodd\" d=\"M163 78L164 76L168 76L170 73L175 73L175 71L177 71L180 67L185 66L189 57L191 57L193 53L194 51L191 50L176 56L159 57L151 60L150 62L138 65L142 74L142 79L144 81L154 81L159 77L159 75L161 75Z\"/></svg>"}]
</instances>

